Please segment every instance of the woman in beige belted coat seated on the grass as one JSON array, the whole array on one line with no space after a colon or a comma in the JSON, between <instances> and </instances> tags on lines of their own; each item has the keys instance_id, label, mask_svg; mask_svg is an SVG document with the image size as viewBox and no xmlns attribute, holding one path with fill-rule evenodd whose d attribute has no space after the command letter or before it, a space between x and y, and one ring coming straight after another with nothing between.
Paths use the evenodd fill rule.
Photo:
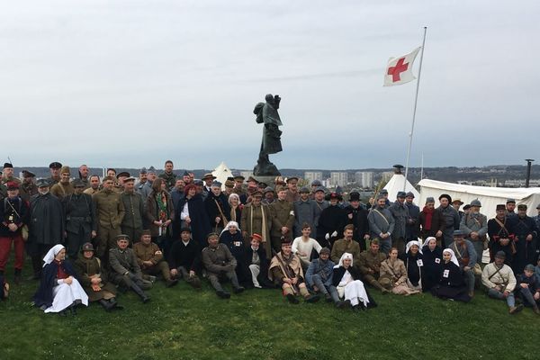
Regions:
<instances>
[{"instance_id":1,"label":"woman in beige belted coat seated on the grass","mask_svg":"<svg viewBox=\"0 0 540 360\"><path fill-rule=\"evenodd\" d=\"M413 289L407 284L407 269L405 264L398 258L397 247L392 247L389 253L390 257L381 263L381 275L379 282L392 293L409 296L413 293L419 293L419 290Z\"/></svg>"}]
</instances>

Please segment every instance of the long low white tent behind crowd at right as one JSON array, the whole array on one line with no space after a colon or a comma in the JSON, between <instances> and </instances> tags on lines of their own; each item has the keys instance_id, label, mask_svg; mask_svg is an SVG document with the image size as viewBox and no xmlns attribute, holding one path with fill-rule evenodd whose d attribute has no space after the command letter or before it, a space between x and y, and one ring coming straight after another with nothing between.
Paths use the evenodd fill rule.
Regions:
<instances>
[{"instance_id":1,"label":"long low white tent behind crowd at right","mask_svg":"<svg viewBox=\"0 0 540 360\"><path fill-rule=\"evenodd\" d=\"M499 203L506 203L507 199L516 200L516 204L525 203L527 205L527 215L535 216L537 214L536 206L540 203L540 187L488 187L472 186L445 183L442 181L423 179L419 182L420 198L419 204L423 205L426 198L431 196L435 198L436 206L438 197L442 193L452 196L452 199L459 198L462 202L470 203L474 199L482 202L481 212L488 219L495 216L495 208ZM390 191L389 191L390 192Z\"/></svg>"}]
</instances>

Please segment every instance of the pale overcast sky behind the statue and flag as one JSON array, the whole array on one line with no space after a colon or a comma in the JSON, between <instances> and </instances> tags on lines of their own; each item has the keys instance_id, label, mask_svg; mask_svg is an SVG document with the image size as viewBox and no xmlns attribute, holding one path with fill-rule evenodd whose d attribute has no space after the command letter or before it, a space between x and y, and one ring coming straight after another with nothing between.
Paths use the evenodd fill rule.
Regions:
<instances>
[{"instance_id":1,"label":"pale overcast sky behind the statue and flag","mask_svg":"<svg viewBox=\"0 0 540 360\"><path fill-rule=\"evenodd\" d=\"M272 93L276 166L404 164L416 82L383 87L383 74L426 25L410 165L422 152L425 166L525 164L540 134L537 14L538 1L3 1L4 157L252 168L253 108Z\"/></svg>"}]
</instances>

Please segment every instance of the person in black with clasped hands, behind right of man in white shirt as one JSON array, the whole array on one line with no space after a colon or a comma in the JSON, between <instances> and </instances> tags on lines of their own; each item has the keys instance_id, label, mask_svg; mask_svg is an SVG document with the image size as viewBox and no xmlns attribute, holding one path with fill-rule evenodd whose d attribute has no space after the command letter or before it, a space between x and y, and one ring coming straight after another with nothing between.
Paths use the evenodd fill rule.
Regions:
<instances>
[{"instance_id":1,"label":"person in black with clasped hands, behind right of man in white shirt","mask_svg":"<svg viewBox=\"0 0 540 360\"><path fill-rule=\"evenodd\" d=\"M330 202L329 207L320 212L317 228L317 241L321 247L331 248L339 234L343 233L347 216L338 205L341 199L338 193L329 193L326 196L326 200Z\"/></svg>"}]
</instances>

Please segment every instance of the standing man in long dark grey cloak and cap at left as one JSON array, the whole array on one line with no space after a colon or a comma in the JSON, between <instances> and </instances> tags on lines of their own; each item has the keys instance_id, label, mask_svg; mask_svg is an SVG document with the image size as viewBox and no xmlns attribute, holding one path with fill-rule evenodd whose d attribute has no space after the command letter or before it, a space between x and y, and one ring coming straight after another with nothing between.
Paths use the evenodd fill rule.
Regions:
<instances>
[{"instance_id":1,"label":"standing man in long dark grey cloak and cap at left","mask_svg":"<svg viewBox=\"0 0 540 360\"><path fill-rule=\"evenodd\" d=\"M64 240L64 209L58 198L49 193L49 181L38 180L38 194L30 199L30 226L26 251L31 256L33 279L41 274L41 259L50 247Z\"/></svg>"}]
</instances>

